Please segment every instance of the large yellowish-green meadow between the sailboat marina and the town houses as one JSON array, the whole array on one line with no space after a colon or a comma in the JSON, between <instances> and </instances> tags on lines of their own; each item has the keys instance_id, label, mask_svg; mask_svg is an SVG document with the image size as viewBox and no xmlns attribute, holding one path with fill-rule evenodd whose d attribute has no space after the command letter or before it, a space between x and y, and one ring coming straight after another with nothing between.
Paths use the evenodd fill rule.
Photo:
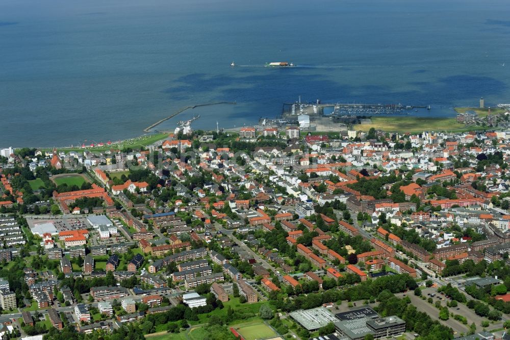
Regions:
<instances>
[{"instance_id":1,"label":"large yellowish-green meadow between the sailboat marina and the town houses","mask_svg":"<svg viewBox=\"0 0 510 340\"><path fill-rule=\"evenodd\" d=\"M414 116L371 117L371 124L358 124L353 130L368 131L370 128L387 132L423 132L423 131L462 131L476 127L466 127L457 123L456 118L426 118ZM478 127L481 128L481 127Z\"/></svg>"}]
</instances>

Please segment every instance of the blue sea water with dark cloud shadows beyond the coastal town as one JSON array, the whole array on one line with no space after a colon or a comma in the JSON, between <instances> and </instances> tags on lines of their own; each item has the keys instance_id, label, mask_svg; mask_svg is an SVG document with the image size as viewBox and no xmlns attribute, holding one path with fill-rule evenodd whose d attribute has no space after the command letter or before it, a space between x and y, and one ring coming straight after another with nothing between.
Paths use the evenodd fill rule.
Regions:
<instances>
[{"instance_id":1,"label":"blue sea water with dark cloud shadows beyond the coastal town","mask_svg":"<svg viewBox=\"0 0 510 340\"><path fill-rule=\"evenodd\" d=\"M507 0L2 0L0 146L129 138L223 101L158 129L253 124L298 95L437 116L510 102L508 18Z\"/></svg>"}]
</instances>

